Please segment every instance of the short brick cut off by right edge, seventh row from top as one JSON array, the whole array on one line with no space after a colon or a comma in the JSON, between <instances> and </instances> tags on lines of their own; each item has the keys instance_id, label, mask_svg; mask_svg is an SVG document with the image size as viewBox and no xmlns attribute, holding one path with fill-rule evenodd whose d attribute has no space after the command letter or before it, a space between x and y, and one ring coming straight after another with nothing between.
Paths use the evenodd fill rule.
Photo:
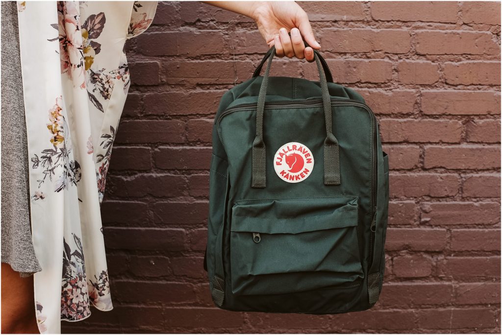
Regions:
<instances>
[{"instance_id":1,"label":"short brick cut off by right edge, seventh row from top","mask_svg":"<svg viewBox=\"0 0 502 335\"><path fill-rule=\"evenodd\" d=\"M500 174L467 175L462 196L472 198L500 198Z\"/></svg>"}]
</instances>

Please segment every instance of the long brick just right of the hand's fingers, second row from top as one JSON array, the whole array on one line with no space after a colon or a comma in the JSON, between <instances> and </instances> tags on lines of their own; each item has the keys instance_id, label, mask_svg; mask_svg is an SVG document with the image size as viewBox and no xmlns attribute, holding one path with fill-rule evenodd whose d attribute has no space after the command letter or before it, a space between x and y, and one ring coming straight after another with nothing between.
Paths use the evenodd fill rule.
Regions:
<instances>
[{"instance_id":1,"label":"long brick just right of the hand's fingers, second row from top","mask_svg":"<svg viewBox=\"0 0 502 335\"><path fill-rule=\"evenodd\" d=\"M410 51L410 33L401 29L323 29L323 50L335 53L386 52L405 54Z\"/></svg>"}]
</instances>

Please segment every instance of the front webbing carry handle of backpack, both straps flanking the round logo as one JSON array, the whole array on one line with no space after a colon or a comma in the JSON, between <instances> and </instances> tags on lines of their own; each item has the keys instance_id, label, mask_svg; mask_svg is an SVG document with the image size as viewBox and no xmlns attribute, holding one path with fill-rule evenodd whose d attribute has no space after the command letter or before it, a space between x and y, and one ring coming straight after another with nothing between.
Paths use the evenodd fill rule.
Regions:
<instances>
[{"instance_id":1,"label":"front webbing carry handle of backpack, both straps flanking the round logo","mask_svg":"<svg viewBox=\"0 0 502 335\"><path fill-rule=\"evenodd\" d=\"M253 188L265 188L266 179L266 157L265 142L263 141L263 113L265 110L265 99L267 87L269 85L270 66L276 54L276 48L270 48L267 53L268 61L263 75L262 86L258 95L256 112L256 137L253 141L252 157L252 183ZM266 56L267 57L267 56ZM265 58L264 58L265 60ZM338 140L333 135L331 97L328 91L326 76L318 53L314 52L314 60L319 72L319 84L321 86L322 103L324 109L324 120L326 123L326 138L324 139L324 185L340 185L340 150ZM258 69L257 69L258 70Z\"/></svg>"}]
</instances>

